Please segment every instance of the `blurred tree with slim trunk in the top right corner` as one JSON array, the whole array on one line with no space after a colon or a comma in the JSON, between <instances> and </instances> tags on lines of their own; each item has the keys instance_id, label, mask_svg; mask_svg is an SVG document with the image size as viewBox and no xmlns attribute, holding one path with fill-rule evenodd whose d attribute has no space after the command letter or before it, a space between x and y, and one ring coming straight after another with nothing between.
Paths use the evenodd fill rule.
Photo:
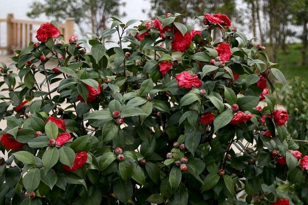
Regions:
<instances>
[{"instance_id":1,"label":"blurred tree with slim trunk in the top right corner","mask_svg":"<svg viewBox=\"0 0 308 205\"><path fill-rule=\"evenodd\" d=\"M307 24L308 24L308 0L298 0L294 1L291 4L291 15L292 15L292 20L295 25L302 26L302 34L300 38L302 39L302 59L301 59L301 65L307 65L307 56L306 56L306 51L308 47L308 42L307 42L307 35L308 35L308 29L307 29Z\"/></svg>"}]
</instances>

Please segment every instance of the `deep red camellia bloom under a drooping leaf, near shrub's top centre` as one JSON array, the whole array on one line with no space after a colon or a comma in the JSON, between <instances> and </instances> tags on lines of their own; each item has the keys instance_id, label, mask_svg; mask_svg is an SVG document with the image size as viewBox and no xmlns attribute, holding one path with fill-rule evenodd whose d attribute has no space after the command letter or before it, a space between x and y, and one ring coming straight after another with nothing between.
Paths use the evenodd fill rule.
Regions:
<instances>
[{"instance_id":1,"label":"deep red camellia bloom under a drooping leaf, near shrub's top centre","mask_svg":"<svg viewBox=\"0 0 308 205\"><path fill-rule=\"evenodd\" d=\"M174 36L174 40L171 43L171 47L173 51L186 51L186 49L190 46L192 40L192 36L190 33L185 33L183 36L180 31L177 31Z\"/></svg>"}]
</instances>

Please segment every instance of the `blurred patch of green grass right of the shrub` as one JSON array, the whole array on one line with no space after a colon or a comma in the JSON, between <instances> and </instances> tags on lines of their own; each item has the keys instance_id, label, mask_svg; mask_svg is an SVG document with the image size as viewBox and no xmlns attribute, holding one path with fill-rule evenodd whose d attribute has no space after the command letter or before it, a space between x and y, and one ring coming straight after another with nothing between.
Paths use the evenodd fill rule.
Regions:
<instances>
[{"instance_id":1,"label":"blurred patch of green grass right of the shrub","mask_svg":"<svg viewBox=\"0 0 308 205\"><path fill-rule=\"evenodd\" d=\"M300 66L301 44L288 44L286 53L282 50L278 53L278 63L280 70L287 80L294 76L299 76L301 80L308 81L308 66ZM308 58L308 51L307 51Z\"/></svg>"}]
</instances>

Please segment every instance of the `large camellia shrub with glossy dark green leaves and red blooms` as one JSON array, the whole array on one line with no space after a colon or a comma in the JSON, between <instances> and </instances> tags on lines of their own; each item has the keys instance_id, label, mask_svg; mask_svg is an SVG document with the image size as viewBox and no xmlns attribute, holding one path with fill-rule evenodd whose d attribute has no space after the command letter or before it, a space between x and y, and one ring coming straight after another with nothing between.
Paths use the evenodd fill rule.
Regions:
<instances>
[{"instance_id":1,"label":"large camellia shrub with glossy dark green leaves and red blooms","mask_svg":"<svg viewBox=\"0 0 308 205\"><path fill-rule=\"evenodd\" d=\"M271 94L278 65L226 15L180 16L68 44L45 23L2 64L1 204L293 204L308 156Z\"/></svg>"}]
</instances>

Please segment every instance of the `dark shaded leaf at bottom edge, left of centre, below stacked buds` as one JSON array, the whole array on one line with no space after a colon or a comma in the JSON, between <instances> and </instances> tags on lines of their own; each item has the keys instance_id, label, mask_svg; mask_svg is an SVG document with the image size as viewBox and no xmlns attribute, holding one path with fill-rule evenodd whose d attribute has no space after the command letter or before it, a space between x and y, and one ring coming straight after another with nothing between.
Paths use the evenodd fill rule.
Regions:
<instances>
[{"instance_id":1,"label":"dark shaded leaf at bottom edge, left of centre, below stacked buds","mask_svg":"<svg viewBox=\"0 0 308 205\"><path fill-rule=\"evenodd\" d=\"M114 180L113 192L115 194L115 198L126 204L132 196L132 184L130 180L124 181L121 178Z\"/></svg>"}]
</instances>

